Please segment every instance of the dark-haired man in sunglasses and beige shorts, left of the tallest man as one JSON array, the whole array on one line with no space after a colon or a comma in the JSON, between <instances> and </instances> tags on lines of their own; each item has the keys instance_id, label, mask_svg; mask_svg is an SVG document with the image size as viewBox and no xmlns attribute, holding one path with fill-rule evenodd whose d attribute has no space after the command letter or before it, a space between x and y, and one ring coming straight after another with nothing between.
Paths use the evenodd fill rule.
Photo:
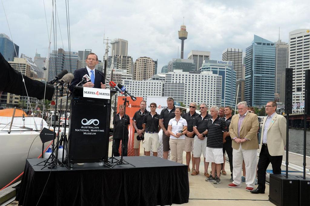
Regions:
<instances>
[{"instance_id":1,"label":"dark-haired man in sunglasses and beige shorts, left of the tallest man","mask_svg":"<svg viewBox=\"0 0 310 206\"><path fill-rule=\"evenodd\" d=\"M156 112L156 103L150 104L150 113L144 115L142 127L145 130L143 147L145 156L151 155L151 148L153 156L157 156L159 148L159 115Z\"/></svg>"}]
</instances>

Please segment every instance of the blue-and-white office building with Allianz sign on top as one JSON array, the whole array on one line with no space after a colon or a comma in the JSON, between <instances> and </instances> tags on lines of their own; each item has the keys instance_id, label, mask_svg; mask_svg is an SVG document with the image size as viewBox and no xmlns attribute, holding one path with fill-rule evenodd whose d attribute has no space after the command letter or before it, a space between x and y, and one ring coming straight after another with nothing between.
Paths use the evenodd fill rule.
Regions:
<instances>
[{"instance_id":1,"label":"blue-and-white office building with Allianz sign on top","mask_svg":"<svg viewBox=\"0 0 310 206\"><path fill-rule=\"evenodd\" d=\"M236 102L236 71L232 61L205 60L201 72L211 71L222 76L221 106L232 106Z\"/></svg>"}]
</instances>

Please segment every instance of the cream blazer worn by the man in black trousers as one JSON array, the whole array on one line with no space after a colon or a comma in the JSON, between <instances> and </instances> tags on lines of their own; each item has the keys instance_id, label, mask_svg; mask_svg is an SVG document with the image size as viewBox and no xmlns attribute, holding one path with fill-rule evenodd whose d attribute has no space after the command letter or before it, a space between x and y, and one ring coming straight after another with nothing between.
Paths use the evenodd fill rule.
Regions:
<instances>
[{"instance_id":1,"label":"cream blazer worn by the man in black trousers","mask_svg":"<svg viewBox=\"0 0 310 206\"><path fill-rule=\"evenodd\" d=\"M262 135L260 145L263 144L264 127L267 117L263 120ZM286 145L286 118L280 114L275 114L269 122L267 131L267 146L271 156L281 156L284 154L284 145Z\"/></svg>"}]
</instances>

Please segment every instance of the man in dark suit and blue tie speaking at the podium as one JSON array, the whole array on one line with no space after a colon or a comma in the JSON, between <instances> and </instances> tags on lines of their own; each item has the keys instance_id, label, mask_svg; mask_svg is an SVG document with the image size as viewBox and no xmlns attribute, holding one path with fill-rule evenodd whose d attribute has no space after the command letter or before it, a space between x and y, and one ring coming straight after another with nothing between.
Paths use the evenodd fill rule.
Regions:
<instances>
[{"instance_id":1,"label":"man in dark suit and blue tie speaking at the podium","mask_svg":"<svg viewBox=\"0 0 310 206\"><path fill-rule=\"evenodd\" d=\"M87 55L85 60L87 66L74 71L74 79L72 80L69 89L72 92L73 88L82 80L84 75L88 75L91 78L91 81L83 84L83 87L94 87L105 89L105 80L100 71L95 69L95 66L98 64L98 57L94 53Z\"/></svg>"}]
</instances>

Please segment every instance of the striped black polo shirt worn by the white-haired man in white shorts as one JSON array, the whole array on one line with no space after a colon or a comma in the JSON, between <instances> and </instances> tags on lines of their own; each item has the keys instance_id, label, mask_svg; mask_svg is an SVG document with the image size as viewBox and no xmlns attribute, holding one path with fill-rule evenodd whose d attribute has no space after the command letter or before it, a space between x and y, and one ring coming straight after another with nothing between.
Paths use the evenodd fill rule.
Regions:
<instances>
[{"instance_id":1,"label":"striped black polo shirt worn by the white-haired man in white shorts","mask_svg":"<svg viewBox=\"0 0 310 206\"><path fill-rule=\"evenodd\" d=\"M226 123L219 116L214 120L210 118L207 122L208 138L207 147L223 148L223 131L226 131Z\"/></svg>"}]
</instances>

